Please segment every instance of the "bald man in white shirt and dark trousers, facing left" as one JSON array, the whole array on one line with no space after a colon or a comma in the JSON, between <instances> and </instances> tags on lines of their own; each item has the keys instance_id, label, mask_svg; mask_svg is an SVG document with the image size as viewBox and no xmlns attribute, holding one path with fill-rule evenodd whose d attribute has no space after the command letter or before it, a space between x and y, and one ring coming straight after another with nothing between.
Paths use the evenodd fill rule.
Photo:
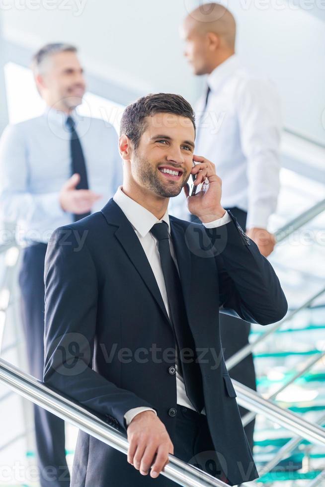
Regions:
<instances>
[{"instance_id":1,"label":"bald man in white shirt and dark trousers, facing left","mask_svg":"<svg viewBox=\"0 0 325 487\"><path fill-rule=\"evenodd\" d=\"M223 207L231 210L267 256L275 244L267 223L279 192L280 108L276 90L241 65L235 54L236 22L224 6L207 3L193 10L184 20L182 35L184 54L194 74L208 75L196 110L195 154L215 161L223 182ZM240 320L231 325L228 318L223 321L227 322L227 326L221 323L227 359L248 343L250 325ZM235 367L231 375L248 387L256 387L252 357ZM245 431L252 447L253 423Z\"/></svg>"}]
</instances>

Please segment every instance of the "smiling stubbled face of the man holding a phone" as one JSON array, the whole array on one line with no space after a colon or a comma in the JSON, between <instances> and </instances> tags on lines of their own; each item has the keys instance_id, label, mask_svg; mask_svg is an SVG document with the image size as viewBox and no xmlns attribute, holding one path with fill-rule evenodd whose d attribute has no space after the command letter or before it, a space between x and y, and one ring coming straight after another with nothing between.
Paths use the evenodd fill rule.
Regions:
<instances>
[{"instance_id":1,"label":"smiling stubbled face of the man holding a phone","mask_svg":"<svg viewBox=\"0 0 325 487\"><path fill-rule=\"evenodd\" d=\"M129 177L142 191L177 196L192 169L195 131L190 119L171 113L147 117L130 159Z\"/></svg>"}]
</instances>

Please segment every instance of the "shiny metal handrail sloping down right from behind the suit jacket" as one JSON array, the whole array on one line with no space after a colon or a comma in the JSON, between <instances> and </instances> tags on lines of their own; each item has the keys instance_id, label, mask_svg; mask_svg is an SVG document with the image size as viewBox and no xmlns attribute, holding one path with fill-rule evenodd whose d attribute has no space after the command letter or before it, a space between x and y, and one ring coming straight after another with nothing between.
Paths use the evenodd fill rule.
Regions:
<instances>
[{"instance_id":1,"label":"shiny metal handrail sloping down right from behind the suit jacket","mask_svg":"<svg viewBox=\"0 0 325 487\"><path fill-rule=\"evenodd\" d=\"M280 406L262 398L260 394L244 386L240 382L234 381L233 384L237 393L237 402L240 406L250 411L263 414L277 424L299 433L303 438L312 443L325 445L325 429L318 424L306 421L298 414L282 409Z\"/></svg>"}]
</instances>

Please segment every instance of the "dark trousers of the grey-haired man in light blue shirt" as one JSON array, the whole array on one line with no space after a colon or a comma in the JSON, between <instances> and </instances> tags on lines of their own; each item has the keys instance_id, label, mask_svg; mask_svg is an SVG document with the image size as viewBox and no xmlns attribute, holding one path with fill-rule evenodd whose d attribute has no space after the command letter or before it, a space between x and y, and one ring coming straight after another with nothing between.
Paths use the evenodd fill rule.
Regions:
<instances>
[{"instance_id":1,"label":"dark trousers of the grey-haired man in light blue shirt","mask_svg":"<svg viewBox=\"0 0 325 487\"><path fill-rule=\"evenodd\" d=\"M19 273L22 324L30 374L43 380L44 367L44 259L47 245L36 243L23 250ZM64 421L34 406L37 460L42 487L68 487Z\"/></svg>"}]
</instances>

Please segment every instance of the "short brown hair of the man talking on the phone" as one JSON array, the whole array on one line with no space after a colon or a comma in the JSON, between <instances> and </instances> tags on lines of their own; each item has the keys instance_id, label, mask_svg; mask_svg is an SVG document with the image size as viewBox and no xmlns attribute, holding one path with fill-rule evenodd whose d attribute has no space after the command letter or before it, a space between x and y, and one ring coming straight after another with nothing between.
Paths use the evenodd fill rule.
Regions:
<instances>
[{"instance_id":1,"label":"short brown hair of the man talking on the phone","mask_svg":"<svg viewBox=\"0 0 325 487\"><path fill-rule=\"evenodd\" d=\"M121 119L120 135L126 135L136 149L146 130L146 117L152 117L157 113L173 113L189 118L196 130L193 108L185 98L173 93L155 93L142 96L125 108Z\"/></svg>"}]
</instances>

